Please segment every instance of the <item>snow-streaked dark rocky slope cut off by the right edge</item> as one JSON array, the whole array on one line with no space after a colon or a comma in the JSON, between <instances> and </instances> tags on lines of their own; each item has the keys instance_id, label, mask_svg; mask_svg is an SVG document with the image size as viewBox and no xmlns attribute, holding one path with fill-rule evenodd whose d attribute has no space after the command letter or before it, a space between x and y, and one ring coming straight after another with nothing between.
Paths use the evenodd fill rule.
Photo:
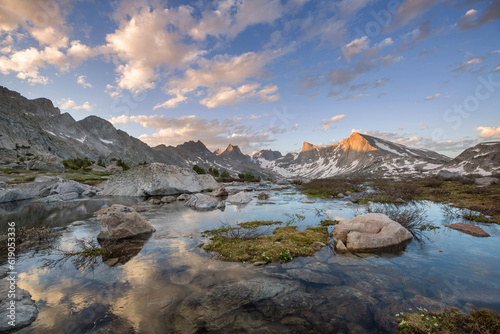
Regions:
<instances>
[{"instance_id":1,"label":"snow-streaked dark rocky slope cut off by the right edge","mask_svg":"<svg viewBox=\"0 0 500 334\"><path fill-rule=\"evenodd\" d=\"M440 170L459 174L492 175L500 173L500 142L477 144L466 149Z\"/></svg>"}]
</instances>

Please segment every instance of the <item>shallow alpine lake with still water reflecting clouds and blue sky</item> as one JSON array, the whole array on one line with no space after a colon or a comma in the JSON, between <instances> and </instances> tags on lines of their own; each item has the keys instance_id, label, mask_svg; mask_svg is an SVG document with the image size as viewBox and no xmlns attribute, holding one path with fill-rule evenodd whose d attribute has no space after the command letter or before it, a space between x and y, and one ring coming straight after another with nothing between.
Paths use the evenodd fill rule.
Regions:
<instances>
[{"instance_id":1,"label":"shallow alpine lake with still water reflecting clouds and blue sky","mask_svg":"<svg viewBox=\"0 0 500 334\"><path fill-rule=\"evenodd\" d=\"M224 211L103 197L0 208L2 231L8 221L18 228L65 227L53 244L59 249L72 249L75 238L95 239L100 221L93 213L114 203L144 205L141 215L156 228L135 256L93 270L77 270L71 260L44 268L44 259L58 258L44 248L20 254L18 286L40 312L18 333L390 333L396 314L418 307L500 311L500 226L467 222L490 238L451 230L444 225L461 220L447 219L436 203L416 205L441 228L397 253L338 255L327 246L312 257L257 267L219 261L200 247L208 241L202 232L222 223L287 221L287 214L300 213L304 229L365 208L349 198L301 203L306 197L294 188L267 193L260 201L252 192L252 202Z\"/></svg>"}]
</instances>

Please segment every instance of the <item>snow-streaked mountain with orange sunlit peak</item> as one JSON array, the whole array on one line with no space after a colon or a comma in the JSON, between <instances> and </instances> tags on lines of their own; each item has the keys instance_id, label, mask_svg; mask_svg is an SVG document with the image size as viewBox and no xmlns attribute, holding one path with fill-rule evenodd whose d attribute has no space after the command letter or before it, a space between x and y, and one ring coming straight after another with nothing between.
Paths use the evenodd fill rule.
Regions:
<instances>
[{"instance_id":1,"label":"snow-streaked mountain with orange sunlit peak","mask_svg":"<svg viewBox=\"0 0 500 334\"><path fill-rule=\"evenodd\" d=\"M426 172L451 159L359 133L326 147L304 143L302 151L277 159L254 155L261 167L286 177L324 178L337 175L411 175Z\"/></svg>"}]
</instances>

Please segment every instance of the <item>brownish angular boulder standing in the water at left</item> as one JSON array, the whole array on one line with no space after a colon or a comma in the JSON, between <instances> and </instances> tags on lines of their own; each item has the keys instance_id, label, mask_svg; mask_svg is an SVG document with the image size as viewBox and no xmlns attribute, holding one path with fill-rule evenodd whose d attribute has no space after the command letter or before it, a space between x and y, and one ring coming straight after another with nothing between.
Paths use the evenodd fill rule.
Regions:
<instances>
[{"instance_id":1,"label":"brownish angular boulder standing in the water at left","mask_svg":"<svg viewBox=\"0 0 500 334\"><path fill-rule=\"evenodd\" d=\"M134 209L114 204L101 216L99 240L123 240L148 237L156 229Z\"/></svg>"}]
</instances>

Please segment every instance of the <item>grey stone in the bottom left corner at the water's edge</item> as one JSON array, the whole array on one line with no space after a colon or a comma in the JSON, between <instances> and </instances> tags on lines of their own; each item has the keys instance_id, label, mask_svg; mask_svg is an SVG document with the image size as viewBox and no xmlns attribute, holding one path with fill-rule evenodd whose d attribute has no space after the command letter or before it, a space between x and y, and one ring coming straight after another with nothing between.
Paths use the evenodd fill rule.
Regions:
<instances>
[{"instance_id":1,"label":"grey stone in the bottom left corner at the water's edge","mask_svg":"<svg viewBox=\"0 0 500 334\"><path fill-rule=\"evenodd\" d=\"M31 294L23 289L16 288L16 296L13 299L8 298L10 291L10 281L0 279L0 332L18 330L29 326L38 316L38 308L35 301L31 299ZM16 302L16 322L15 326L8 323L10 301Z\"/></svg>"}]
</instances>

